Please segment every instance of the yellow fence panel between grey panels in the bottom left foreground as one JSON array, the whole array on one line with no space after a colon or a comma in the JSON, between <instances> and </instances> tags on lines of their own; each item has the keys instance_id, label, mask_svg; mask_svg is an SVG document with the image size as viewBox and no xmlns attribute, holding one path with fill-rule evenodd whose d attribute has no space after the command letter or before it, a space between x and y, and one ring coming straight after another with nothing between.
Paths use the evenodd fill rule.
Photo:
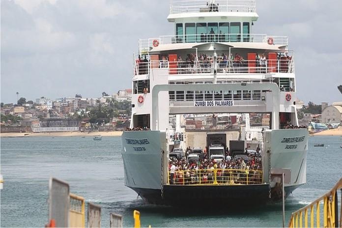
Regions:
<instances>
[{"instance_id":1,"label":"yellow fence panel between grey panels in the bottom left foreground","mask_svg":"<svg viewBox=\"0 0 342 228\"><path fill-rule=\"evenodd\" d=\"M85 199L70 193L69 227L85 227Z\"/></svg>"}]
</instances>

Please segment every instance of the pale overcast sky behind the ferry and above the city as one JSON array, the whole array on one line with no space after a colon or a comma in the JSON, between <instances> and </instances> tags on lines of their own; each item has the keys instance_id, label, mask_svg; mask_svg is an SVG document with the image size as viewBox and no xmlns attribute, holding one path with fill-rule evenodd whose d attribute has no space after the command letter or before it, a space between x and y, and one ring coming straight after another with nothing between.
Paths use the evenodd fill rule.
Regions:
<instances>
[{"instance_id":1,"label":"pale overcast sky behind the ferry and above the city","mask_svg":"<svg viewBox=\"0 0 342 228\"><path fill-rule=\"evenodd\" d=\"M297 96L341 101L342 0L257 0L252 33L287 35ZM1 0L1 102L130 88L138 39L173 34L169 0Z\"/></svg>"}]
</instances>

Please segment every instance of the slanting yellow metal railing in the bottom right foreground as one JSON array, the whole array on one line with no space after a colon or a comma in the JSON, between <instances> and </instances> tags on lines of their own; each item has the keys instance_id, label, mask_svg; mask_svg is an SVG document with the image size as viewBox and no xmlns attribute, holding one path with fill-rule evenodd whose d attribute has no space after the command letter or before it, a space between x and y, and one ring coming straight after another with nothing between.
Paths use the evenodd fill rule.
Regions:
<instances>
[{"instance_id":1,"label":"slanting yellow metal railing in the bottom right foreground","mask_svg":"<svg viewBox=\"0 0 342 228\"><path fill-rule=\"evenodd\" d=\"M342 189L342 178L340 181L325 195L314 200L309 205L295 211L291 215L288 227L302 228L303 227L303 214L304 214L304 227L321 227L321 211L320 204L323 202L323 227L342 227L342 203L340 203L340 221L339 221L339 207L338 207L338 191ZM310 221L308 220L310 210ZM299 220L299 224L298 224Z\"/></svg>"}]
</instances>

